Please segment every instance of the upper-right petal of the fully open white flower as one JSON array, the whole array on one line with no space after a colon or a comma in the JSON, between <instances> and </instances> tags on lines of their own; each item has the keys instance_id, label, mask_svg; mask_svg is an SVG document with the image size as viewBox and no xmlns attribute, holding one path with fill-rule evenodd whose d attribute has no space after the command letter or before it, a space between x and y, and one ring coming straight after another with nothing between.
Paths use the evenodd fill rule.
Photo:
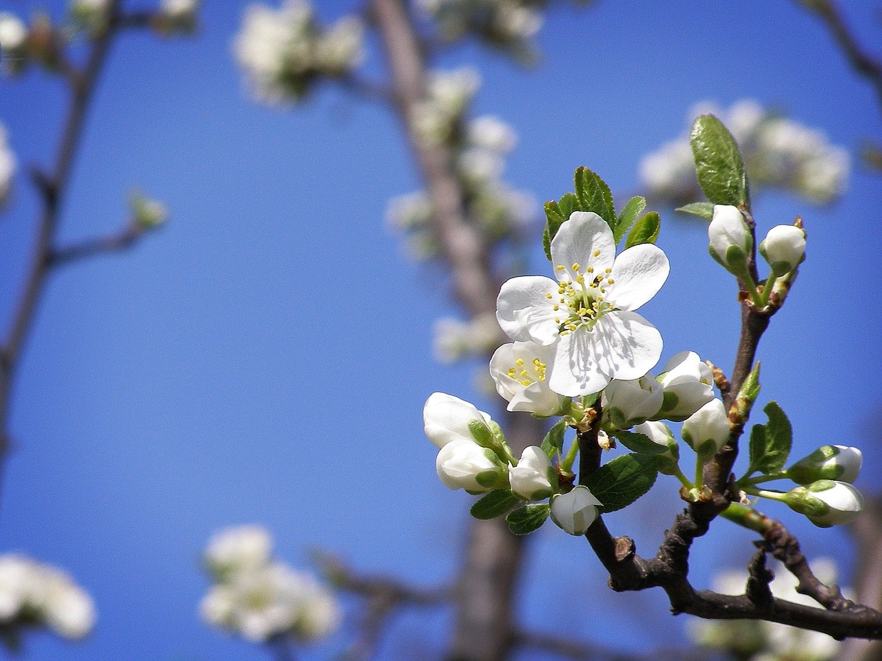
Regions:
<instances>
[{"instance_id":1,"label":"upper-right petal of the fully open white flower","mask_svg":"<svg viewBox=\"0 0 882 661\"><path fill-rule=\"evenodd\" d=\"M636 310L658 293L669 271L668 257L661 248L651 243L633 246L616 257L607 298L619 309Z\"/></svg>"}]
</instances>

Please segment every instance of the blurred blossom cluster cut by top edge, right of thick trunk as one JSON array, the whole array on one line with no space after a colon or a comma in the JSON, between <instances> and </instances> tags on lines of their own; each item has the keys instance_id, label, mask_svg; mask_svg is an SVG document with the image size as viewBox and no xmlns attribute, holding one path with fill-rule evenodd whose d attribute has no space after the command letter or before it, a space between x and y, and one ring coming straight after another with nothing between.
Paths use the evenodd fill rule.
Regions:
<instances>
[{"instance_id":1,"label":"blurred blossom cluster cut by top edge, right of thick trunk","mask_svg":"<svg viewBox=\"0 0 882 661\"><path fill-rule=\"evenodd\" d=\"M542 27L542 12L531 0L419 0L435 20L443 39L455 41L467 33L521 60L534 57L532 38Z\"/></svg>"}]
</instances>

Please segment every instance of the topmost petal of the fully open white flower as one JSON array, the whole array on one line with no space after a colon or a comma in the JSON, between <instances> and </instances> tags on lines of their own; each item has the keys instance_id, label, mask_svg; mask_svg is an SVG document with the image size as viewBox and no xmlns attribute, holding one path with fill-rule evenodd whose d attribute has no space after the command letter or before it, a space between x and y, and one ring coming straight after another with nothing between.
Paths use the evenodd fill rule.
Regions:
<instances>
[{"instance_id":1,"label":"topmost petal of the fully open white flower","mask_svg":"<svg viewBox=\"0 0 882 661\"><path fill-rule=\"evenodd\" d=\"M595 252L598 253L596 256ZM589 266L594 267L594 272L602 273L612 266L615 258L616 242L612 230L594 212L572 212L551 241L551 264L558 280L575 281L578 274L573 270L573 264L579 264L582 273ZM558 266L564 269L558 269Z\"/></svg>"}]
</instances>

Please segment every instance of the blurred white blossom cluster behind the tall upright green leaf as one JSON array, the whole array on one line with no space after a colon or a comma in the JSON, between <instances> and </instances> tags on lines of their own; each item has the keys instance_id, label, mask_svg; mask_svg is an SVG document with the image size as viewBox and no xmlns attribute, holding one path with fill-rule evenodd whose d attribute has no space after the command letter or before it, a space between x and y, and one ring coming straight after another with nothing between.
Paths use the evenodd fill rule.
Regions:
<instances>
[{"instance_id":1,"label":"blurred white blossom cluster behind the tall upright green leaf","mask_svg":"<svg viewBox=\"0 0 882 661\"><path fill-rule=\"evenodd\" d=\"M752 186L790 190L821 204L844 191L848 152L831 145L821 131L762 108L754 100L738 101L727 111L702 101L691 108L689 123L704 113L719 116L736 138ZM639 176L660 203L684 204L700 194L686 134L644 156Z\"/></svg>"}]
</instances>

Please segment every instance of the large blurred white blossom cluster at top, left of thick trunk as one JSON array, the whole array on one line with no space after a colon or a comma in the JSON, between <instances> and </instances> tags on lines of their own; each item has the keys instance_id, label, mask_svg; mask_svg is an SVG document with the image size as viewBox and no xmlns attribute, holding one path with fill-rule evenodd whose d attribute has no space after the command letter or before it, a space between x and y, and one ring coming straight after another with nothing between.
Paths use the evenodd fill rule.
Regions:
<instances>
[{"instance_id":1,"label":"large blurred white blossom cluster at top, left of thick trunk","mask_svg":"<svg viewBox=\"0 0 882 661\"><path fill-rule=\"evenodd\" d=\"M233 44L258 100L303 100L320 78L342 78L362 58L363 24L345 16L332 26L318 22L305 0L286 0L278 10L250 4Z\"/></svg>"}]
</instances>

